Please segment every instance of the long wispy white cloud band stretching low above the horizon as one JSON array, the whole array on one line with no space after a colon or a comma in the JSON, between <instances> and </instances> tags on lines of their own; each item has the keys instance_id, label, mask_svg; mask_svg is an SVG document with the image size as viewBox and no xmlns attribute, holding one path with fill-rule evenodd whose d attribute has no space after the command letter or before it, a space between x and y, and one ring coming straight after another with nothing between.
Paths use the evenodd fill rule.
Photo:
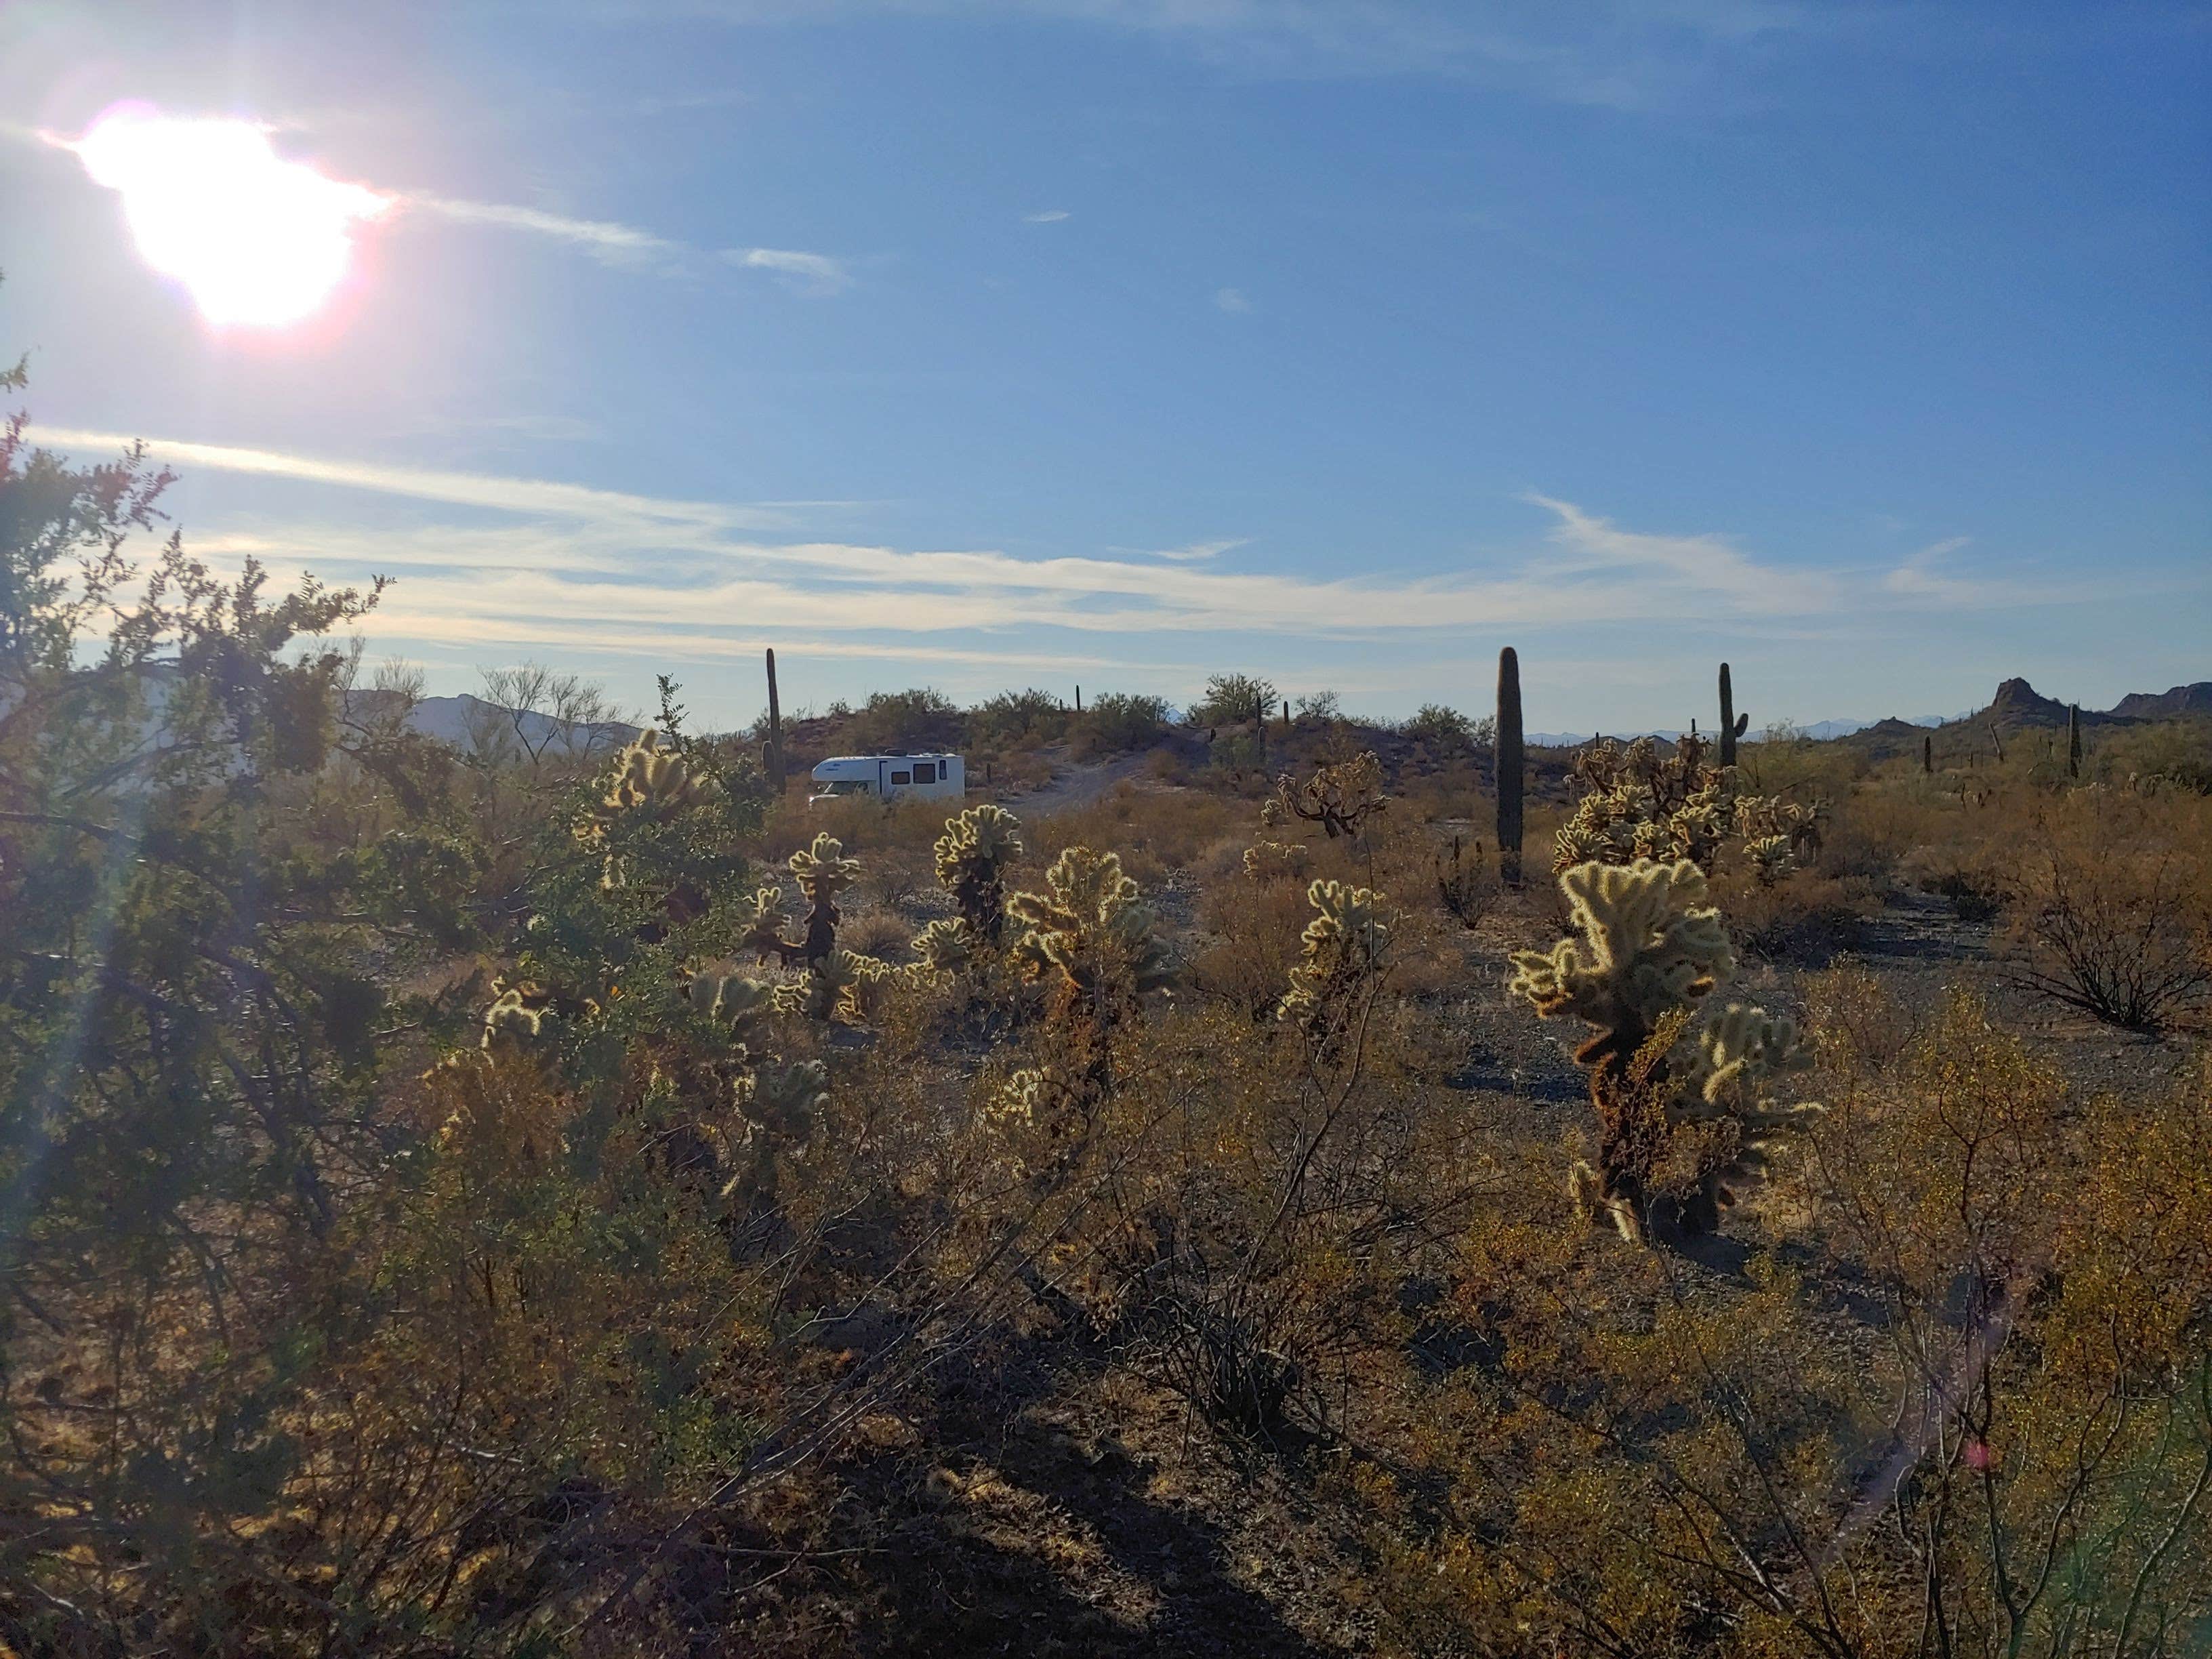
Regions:
<instances>
[{"instance_id":1,"label":"long wispy white cloud band stretching low above the horizon","mask_svg":"<svg viewBox=\"0 0 2212 1659\"><path fill-rule=\"evenodd\" d=\"M122 442L122 434L77 429L35 429L33 438L80 451L113 451ZM405 617L409 637L425 639L584 646L637 639L641 650L653 639L686 639L697 650L734 650L732 641L754 641L763 630L854 641L933 635L933 650L1013 661L1006 644L989 635L1394 639L1652 619L1756 622L1772 633L1787 617L1827 617L1843 595L1832 573L1776 566L1728 538L1628 531L1544 495L1533 500L1555 522L1540 557L1491 557L1486 568L1451 577L1321 580L1281 568L1208 568L1234 542L1197 542L1166 555L1022 560L993 549L765 540L796 529L790 509L232 445L153 442L150 449L195 469L502 515L504 522L489 524L403 529L232 515L212 526L215 535L195 540L210 555L257 553L272 566L312 564L332 580L400 573L387 626ZM1878 599L1874 588L1871 602ZM896 653L883 644L872 650L914 655L907 644ZM1064 650L1026 655L1068 659Z\"/></svg>"}]
</instances>

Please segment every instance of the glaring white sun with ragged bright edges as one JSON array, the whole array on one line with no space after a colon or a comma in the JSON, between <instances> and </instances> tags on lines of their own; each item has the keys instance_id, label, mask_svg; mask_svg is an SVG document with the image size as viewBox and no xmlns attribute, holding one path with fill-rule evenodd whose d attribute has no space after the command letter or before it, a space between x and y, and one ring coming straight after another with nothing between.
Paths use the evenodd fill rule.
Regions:
<instances>
[{"instance_id":1,"label":"glaring white sun with ragged bright edges","mask_svg":"<svg viewBox=\"0 0 2212 1659\"><path fill-rule=\"evenodd\" d=\"M354 230L392 206L367 186L285 161L252 122L108 111L69 146L124 199L146 263L215 325L283 327L345 279Z\"/></svg>"}]
</instances>

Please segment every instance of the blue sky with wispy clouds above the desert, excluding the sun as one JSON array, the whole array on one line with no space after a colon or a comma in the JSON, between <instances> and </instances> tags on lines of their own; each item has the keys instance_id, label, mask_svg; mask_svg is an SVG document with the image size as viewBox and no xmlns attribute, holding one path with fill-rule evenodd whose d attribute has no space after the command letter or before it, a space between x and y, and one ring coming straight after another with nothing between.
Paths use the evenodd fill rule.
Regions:
<instances>
[{"instance_id":1,"label":"blue sky with wispy clouds above the desert, excluding the sun","mask_svg":"<svg viewBox=\"0 0 2212 1659\"><path fill-rule=\"evenodd\" d=\"M352 13L352 15L341 15ZM192 546L750 719L1334 686L1542 730L2212 677L2212 11L0 4L0 347ZM396 197L212 330L38 139Z\"/></svg>"}]
</instances>

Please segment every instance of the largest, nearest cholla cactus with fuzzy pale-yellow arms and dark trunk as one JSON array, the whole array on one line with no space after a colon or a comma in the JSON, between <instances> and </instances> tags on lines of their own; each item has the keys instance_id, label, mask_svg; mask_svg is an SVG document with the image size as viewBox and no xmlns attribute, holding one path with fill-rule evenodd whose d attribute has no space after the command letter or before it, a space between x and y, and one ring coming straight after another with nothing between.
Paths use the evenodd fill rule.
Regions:
<instances>
[{"instance_id":1,"label":"largest, nearest cholla cactus with fuzzy pale-yellow arms and dark trunk","mask_svg":"<svg viewBox=\"0 0 2212 1659\"><path fill-rule=\"evenodd\" d=\"M1699 902L1705 874L1694 863L1575 865L1559 891L1582 938L1515 953L1506 993L1546 1020L1573 1015L1593 1029L1575 1060L1590 1077L1599 1159L1575 1168L1575 1203L1628 1239L1655 1214L1683 1232L1710 1230L1765 1170L1774 1139L1818 1110L1765 1095L1809 1055L1792 1022L1736 1004L1670 1071L1697 1009L1734 973L1721 914Z\"/></svg>"}]
</instances>

